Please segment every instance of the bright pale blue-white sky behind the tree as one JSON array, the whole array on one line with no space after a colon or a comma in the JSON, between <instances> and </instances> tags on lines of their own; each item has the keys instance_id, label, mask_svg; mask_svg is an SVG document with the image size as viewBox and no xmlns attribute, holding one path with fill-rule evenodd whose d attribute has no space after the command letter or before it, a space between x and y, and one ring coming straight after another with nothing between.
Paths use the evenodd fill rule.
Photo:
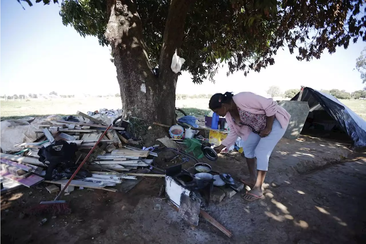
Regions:
<instances>
[{"instance_id":1,"label":"bright pale blue-white sky behind the tree","mask_svg":"<svg viewBox=\"0 0 366 244\"><path fill-rule=\"evenodd\" d=\"M115 66L109 61L108 47L96 37L81 37L72 27L63 26L57 4L29 7L16 0L0 1L0 93L115 94L119 92ZM362 89L355 59L365 42L350 44L347 50L324 53L319 60L299 62L288 49L280 50L275 64L260 73L242 72L226 77L224 67L209 81L194 85L190 75L178 79L177 93L200 94L225 91L252 91L265 95L271 85L281 90L299 88ZM183 57L184 58L184 57ZM189 62L189 60L186 60Z\"/></svg>"}]
</instances>

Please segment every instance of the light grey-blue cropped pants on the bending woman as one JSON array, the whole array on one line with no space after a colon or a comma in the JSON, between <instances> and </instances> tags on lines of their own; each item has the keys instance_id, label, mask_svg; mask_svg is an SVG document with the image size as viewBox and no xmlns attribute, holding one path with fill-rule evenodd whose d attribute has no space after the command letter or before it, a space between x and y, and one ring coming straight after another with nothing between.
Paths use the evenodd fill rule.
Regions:
<instances>
[{"instance_id":1,"label":"light grey-blue cropped pants on the bending woman","mask_svg":"<svg viewBox=\"0 0 366 244\"><path fill-rule=\"evenodd\" d=\"M246 158L257 158L257 170L268 170L269 156L273 148L285 134L287 128L282 128L280 122L275 119L272 131L267 137L260 137L251 132L248 138L243 141L243 151Z\"/></svg>"}]
</instances>

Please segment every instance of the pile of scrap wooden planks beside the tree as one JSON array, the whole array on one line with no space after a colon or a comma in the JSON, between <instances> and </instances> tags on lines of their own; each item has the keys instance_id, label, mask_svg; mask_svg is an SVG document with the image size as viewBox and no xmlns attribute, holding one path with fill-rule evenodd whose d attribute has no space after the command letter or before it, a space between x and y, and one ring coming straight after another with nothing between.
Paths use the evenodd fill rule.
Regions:
<instances>
[{"instance_id":1,"label":"pile of scrap wooden planks beside the tree","mask_svg":"<svg viewBox=\"0 0 366 244\"><path fill-rule=\"evenodd\" d=\"M56 118L55 120L49 119L48 122L40 125L39 129L35 131L38 134L36 141L15 145L20 151L17 153L18 155L0 153L0 176L28 187L43 181L44 178L41 176L45 174L48 162L42 163L38 160L38 150L56 140L76 143L78 152L76 152L75 164L81 163L108 127L109 121L105 115L108 114L108 111L104 111L104 115L93 117L79 111L77 114L79 122ZM151 158L157 154L128 146L128 140L119 133L121 130L124 128L112 126L106 136L101 138L94 154L86 164L86 169L91 172L91 177L72 180L70 187L117 191L111 187L123 184L124 180L136 180L138 176L150 175L133 172L141 167L149 167L153 161ZM148 157L150 159L147 159ZM164 175L156 174L151 174L151 176L164 177ZM45 182L64 185L67 179Z\"/></svg>"}]
</instances>

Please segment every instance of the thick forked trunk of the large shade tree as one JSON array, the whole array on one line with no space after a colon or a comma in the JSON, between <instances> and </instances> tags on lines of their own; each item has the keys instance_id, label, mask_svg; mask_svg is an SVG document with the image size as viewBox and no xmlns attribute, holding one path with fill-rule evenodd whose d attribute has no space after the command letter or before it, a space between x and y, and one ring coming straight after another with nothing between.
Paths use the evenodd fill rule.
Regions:
<instances>
[{"instance_id":1,"label":"thick forked trunk of the large shade tree","mask_svg":"<svg viewBox=\"0 0 366 244\"><path fill-rule=\"evenodd\" d=\"M175 89L178 75L173 73L170 64L175 49L180 48L183 40L187 11L182 10L182 7L185 6L188 10L190 1L171 2L158 76L153 74L147 57L141 19L134 2L112 1L105 36L113 52L124 115L172 125L175 123Z\"/></svg>"}]
</instances>

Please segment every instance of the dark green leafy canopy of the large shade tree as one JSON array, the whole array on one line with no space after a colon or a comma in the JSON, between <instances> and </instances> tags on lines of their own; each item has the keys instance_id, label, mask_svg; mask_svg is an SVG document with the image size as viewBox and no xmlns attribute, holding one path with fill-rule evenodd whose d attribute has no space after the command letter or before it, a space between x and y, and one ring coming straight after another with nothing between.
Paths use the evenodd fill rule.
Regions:
<instances>
[{"instance_id":1,"label":"dark green leafy canopy of the large shade tree","mask_svg":"<svg viewBox=\"0 0 366 244\"><path fill-rule=\"evenodd\" d=\"M20 2L20 0L17 0ZM31 0L26 1L31 5ZM36 0L49 4L57 0ZM81 36L108 45L105 31L113 0L63 0L60 15ZM143 39L152 67L158 66L170 1L136 0ZM366 41L362 0L197 0L187 13L180 55L193 82L212 80L221 63L229 73L260 71L288 47L298 60L320 58L323 51Z\"/></svg>"}]
</instances>

